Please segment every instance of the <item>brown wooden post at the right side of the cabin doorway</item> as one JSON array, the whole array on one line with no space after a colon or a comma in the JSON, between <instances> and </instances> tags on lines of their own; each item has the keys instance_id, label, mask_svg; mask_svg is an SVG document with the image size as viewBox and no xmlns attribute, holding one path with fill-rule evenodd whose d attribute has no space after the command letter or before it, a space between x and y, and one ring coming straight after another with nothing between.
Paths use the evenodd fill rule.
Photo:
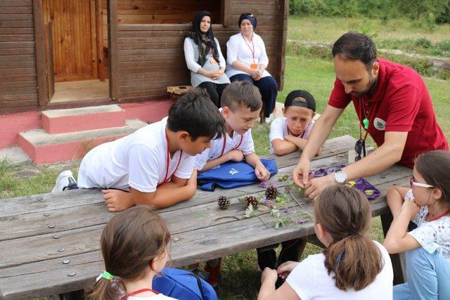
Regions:
<instances>
[{"instance_id":1,"label":"brown wooden post at the right side of the cabin doorway","mask_svg":"<svg viewBox=\"0 0 450 300\"><path fill-rule=\"evenodd\" d=\"M117 0L108 0L108 58L110 70L110 98L118 100L119 86L119 42L117 26Z\"/></svg>"}]
</instances>

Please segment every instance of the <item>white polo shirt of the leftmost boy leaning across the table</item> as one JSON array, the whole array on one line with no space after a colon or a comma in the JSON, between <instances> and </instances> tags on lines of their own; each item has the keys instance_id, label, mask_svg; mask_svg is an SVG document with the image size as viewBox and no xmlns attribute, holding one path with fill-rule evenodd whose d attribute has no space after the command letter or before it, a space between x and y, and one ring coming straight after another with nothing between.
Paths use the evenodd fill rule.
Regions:
<instances>
[{"instance_id":1,"label":"white polo shirt of the leftmost boy leaning across the table","mask_svg":"<svg viewBox=\"0 0 450 300\"><path fill-rule=\"evenodd\" d=\"M138 129L129 136L98 145L84 156L78 172L79 188L129 187L152 193L158 184L178 178L190 178L195 159L177 150L167 170L167 117ZM176 168L178 165L178 168Z\"/></svg>"}]
</instances>

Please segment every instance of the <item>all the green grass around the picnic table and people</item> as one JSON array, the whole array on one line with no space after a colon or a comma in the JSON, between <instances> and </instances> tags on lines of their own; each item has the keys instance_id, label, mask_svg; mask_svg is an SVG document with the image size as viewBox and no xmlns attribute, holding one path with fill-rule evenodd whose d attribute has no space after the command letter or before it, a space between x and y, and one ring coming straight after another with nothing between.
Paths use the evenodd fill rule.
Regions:
<instances>
[{"instance_id":1,"label":"all the green grass around the picnic table and people","mask_svg":"<svg viewBox=\"0 0 450 300\"><path fill-rule=\"evenodd\" d=\"M339 24L339 26L336 26ZM418 39L426 37L433 43L450 39L450 26L439 26L435 32L428 32L414 27L406 20L360 20L342 18L293 18L289 19L288 39L309 39L318 42L333 42L348 30L359 30L368 34L378 34L378 39ZM316 98L317 111L320 113L328 102L333 89L335 74L333 63L319 58L302 56L286 58L285 86L278 94L278 101L283 103L285 96L293 89L305 89ZM442 126L447 139L450 139L449 95L450 81L426 78L431 93L437 120ZM349 105L352 106L352 105ZM353 107L348 107L338 120L330 137L349 134L354 138L359 135L359 124ZM253 129L256 151L259 155L269 153L269 126L257 124ZM11 167L0 162L0 198L18 197L37 193L48 193L53 188L56 176L63 167L54 165L43 167L41 174L34 177L17 175L23 167ZM77 174L77 164L70 164L70 169ZM375 218L370 232L371 238L382 240L383 233L380 219ZM308 245L303 256L321 251ZM99 270L100 272L100 270ZM255 299L259 290L259 270L256 252L244 252L224 258L223 280L217 288L220 299Z\"/></svg>"}]
</instances>

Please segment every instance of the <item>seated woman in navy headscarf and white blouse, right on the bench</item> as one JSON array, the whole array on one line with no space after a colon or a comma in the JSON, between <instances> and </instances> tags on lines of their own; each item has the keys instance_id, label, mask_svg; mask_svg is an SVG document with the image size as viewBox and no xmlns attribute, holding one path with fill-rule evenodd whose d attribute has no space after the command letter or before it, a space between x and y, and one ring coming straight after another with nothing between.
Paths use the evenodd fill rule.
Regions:
<instances>
[{"instance_id":1,"label":"seated woman in navy headscarf and white blouse, right on the bench","mask_svg":"<svg viewBox=\"0 0 450 300\"><path fill-rule=\"evenodd\" d=\"M249 81L255 84L265 104L264 117L270 121L274 111L278 85L274 77L266 71L269 58L264 41L255 34L257 20L251 13L240 15L240 32L230 37L226 43L226 75L231 81Z\"/></svg>"}]
</instances>

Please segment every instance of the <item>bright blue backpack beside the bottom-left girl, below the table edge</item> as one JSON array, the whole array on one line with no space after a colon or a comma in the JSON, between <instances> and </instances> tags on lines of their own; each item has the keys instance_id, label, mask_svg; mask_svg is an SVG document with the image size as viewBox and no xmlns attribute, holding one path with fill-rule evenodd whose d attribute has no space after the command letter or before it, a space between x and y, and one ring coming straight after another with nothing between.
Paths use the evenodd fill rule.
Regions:
<instances>
[{"instance_id":1,"label":"bright blue backpack beside the bottom-left girl, below the table edge","mask_svg":"<svg viewBox=\"0 0 450 300\"><path fill-rule=\"evenodd\" d=\"M162 269L162 276L153 278L153 289L179 300L217 300L214 288L197 275L176 268Z\"/></svg>"}]
</instances>

